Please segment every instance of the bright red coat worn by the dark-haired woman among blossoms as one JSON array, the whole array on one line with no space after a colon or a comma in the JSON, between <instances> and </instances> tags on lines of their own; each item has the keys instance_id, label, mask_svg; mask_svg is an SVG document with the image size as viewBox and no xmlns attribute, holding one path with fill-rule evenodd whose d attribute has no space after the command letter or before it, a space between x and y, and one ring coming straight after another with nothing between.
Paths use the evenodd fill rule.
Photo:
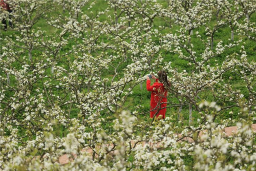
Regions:
<instances>
[{"instance_id":1,"label":"bright red coat worn by the dark-haired woman among blossoms","mask_svg":"<svg viewBox=\"0 0 256 171\"><path fill-rule=\"evenodd\" d=\"M151 81L146 81L146 90L151 92L151 102L150 102L150 117L153 118L154 115L158 112L159 106L160 108L164 108L167 105L167 91L165 90L163 83L158 82L158 79L156 79L156 82L151 86ZM164 103L163 103L164 102ZM159 105L160 103L163 103ZM156 117L159 115L162 115L163 118L165 118L166 108L161 109Z\"/></svg>"}]
</instances>

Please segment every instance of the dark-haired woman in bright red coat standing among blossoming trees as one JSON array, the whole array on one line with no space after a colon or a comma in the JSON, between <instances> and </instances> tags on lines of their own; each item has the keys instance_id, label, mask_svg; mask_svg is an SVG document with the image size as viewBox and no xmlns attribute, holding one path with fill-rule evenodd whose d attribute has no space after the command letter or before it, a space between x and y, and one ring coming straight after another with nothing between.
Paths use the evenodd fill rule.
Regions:
<instances>
[{"instance_id":1,"label":"dark-haired woman in bright red coat standing among blossoming trees","mask_svg":"<svg viewBox=\"0 0 256 171\"><path fill-rule=\"evenodd\" d=\"M166 88L170 87L170 83L167 79L167 74L165 71L159 71L158 78L156 78L154 75L152 75L152 78L156 79L156 82L151 86L150 77L146 77L146 90L151 92L150 117L159 118L162 116L162 119L164 119L166 113L165 107L167 105Z\"/></svg>"}]
</instances>

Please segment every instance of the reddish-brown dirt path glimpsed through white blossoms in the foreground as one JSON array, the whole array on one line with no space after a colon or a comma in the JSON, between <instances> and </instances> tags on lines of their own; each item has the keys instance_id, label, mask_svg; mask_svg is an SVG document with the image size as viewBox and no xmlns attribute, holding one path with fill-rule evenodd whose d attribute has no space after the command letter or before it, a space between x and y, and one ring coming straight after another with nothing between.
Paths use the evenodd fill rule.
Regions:
<instances>
[{"instance_id":1,"label":"reddish-brown dirt path glimpsed through white blossoms in the foreground","mask_svg":"<svg viewBox=\"0 0 256 171\"><path fill-rule=\"evenodd\" d=\"M251 129L256 132L256 123L251 125ZM224 132L226 133L227 136L231 136L233 134L235 134L237 132L237 126L230 126L230 127L225 127ZM201 136L202 134L200 134L199 136ZM191 138L185 138L184 140L187 140L189 142L193 142L193 139ZM134 145L134 141L131 141L132 145ZM141 142L142 145L144 146L146 144L145 141ZM111 144L112 145L112 144ZM153 146L154 144L149 144L150 146ZM161 147L161 142L158 142L157 144L155 144L157 148ZM88 149L82 149L83 152L92 154L93 151L92 149L88 148ZM113 154L113 153L112 153ZM74 155L74 157L76 158L77 156ZM69 159L69 156L67 154L59 157L59 163L60 164L67 164L69 161L72 161L73 159Z\"/></svg>"}]
</instances>

